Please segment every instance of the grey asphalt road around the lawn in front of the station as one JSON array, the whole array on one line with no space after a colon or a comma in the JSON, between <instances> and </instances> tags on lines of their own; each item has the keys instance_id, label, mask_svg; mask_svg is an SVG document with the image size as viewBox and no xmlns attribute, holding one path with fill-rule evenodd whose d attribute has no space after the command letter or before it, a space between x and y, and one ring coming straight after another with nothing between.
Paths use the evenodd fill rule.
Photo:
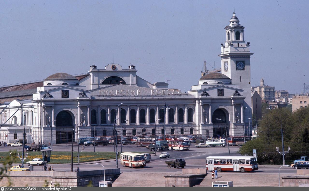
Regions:
<instances>
[{"instance_id":1,"label":"grey asphalt road around the lawn in front of the station","mask_svg":"<svg viewBox=\"0 0 309 191\"><path fill-rule=\"evenodd\" d=\"M186 161L185 168L205 168L205 158L207 156L228 156L228 148L227 147L208 147L208 148L196 148L194 147L194 144L190 147L190 150L188 151L166 151L171 156L169 159L159 159L159 154L161 152L157 152L157 156L154 156L154 154L151 156L150 163L146 164L146 167L144 168L129 168L129 167L123 167L120 163L120 160L118 160L118 166L121 168L121 172L125 171L147 171L147 172L181 172L181 169L176 168L167 168L167 165L165 164L166 160L174 160L176 158L184 158ZM87 151L91 152L94 151L93 146L85 146L85 149L82 151L83 145L79 146L79 151ZM0 146L0 152L2 151L9 151L11 149L16 149L17 151L21 152L22 147L3 147ZM74 151L77 151L77 145L74 145L73 147ZM239 150L238 147L230 147L231 156L240 156L240 154L237 153ZM65 145L53 145L53 151L71 151L71 145L65 144ZM96 152L113 152L114 146L108 145L108 146L102 146L99 145L95 147ZM148 149L145 147L135 146L134 144L129 145L123 145L122 152L149 152ZM121 147L118 146L118 152L121 152ZM92 163L92 164L90 164ZM116 168L116 160L113 161L106 161L102 162L100 164L103 164L105 169L109 168ZM70 164L49 164L53 166L55 170L71 170ZM95 162L89 162L88 164L74 164L73 170L79 167L80 171L87 171L87 170L97 170L98 168L103 168L102 166L98 166L95 164ZM280 166L277 165L260 165L259 170L254 171L254 173L278 173L278 169ZM34 170L43 170L42 166L34 166ZM224 173L224 172L221 172ZM293 168L281 168L280 173L291 173L296 174L296 170Z\"/></svg>"}]
</instances>

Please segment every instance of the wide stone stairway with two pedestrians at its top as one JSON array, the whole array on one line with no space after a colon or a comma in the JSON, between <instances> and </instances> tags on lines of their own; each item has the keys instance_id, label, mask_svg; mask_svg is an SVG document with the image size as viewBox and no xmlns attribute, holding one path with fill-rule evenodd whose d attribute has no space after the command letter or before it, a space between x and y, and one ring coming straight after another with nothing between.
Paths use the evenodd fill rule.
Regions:
<instances>
[{"instance_id":1,"label":"wide stone stairway with two pedestrians at its top","mask_svg":"<svg viewBox=\"0 0 309 191\"><path fill-rule=\"evenodd\" d=\"M280 174L280 177L289 174ZM219 179L212 179L208 173L203 181L196 186L212 186L215 181L233 181L233 186L279 186L279 176L277 173L256 173L256 172L220 172Z\"/></svg>"}]
</instances>

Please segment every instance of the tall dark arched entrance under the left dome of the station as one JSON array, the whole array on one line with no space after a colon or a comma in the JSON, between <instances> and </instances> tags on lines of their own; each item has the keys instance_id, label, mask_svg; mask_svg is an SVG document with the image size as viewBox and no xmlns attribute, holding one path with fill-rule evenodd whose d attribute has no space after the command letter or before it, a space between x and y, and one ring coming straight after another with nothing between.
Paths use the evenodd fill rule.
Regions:
<instances>
[{"instance_id":1,"label":"tall dark arched entrance under the left dome of the station","mask_svg":"<svg viewBox=\"0 0 309 191\"><path fill-rule=\"evenodd\" d=\"M72 115L68 111L60 111L56 117L56 144L75 141L72 130Z\"/></svg>"}]
</instances>

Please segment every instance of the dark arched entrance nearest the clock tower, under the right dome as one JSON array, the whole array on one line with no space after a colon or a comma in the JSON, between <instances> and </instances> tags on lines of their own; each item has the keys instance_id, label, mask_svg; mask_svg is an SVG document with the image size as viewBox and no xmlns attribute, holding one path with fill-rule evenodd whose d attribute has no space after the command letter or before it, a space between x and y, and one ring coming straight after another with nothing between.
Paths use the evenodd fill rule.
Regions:
<instances>
[{"instance_id":1,"label":"dark arched entrance nearest the clock tower, under the right dome","mask_svg":"<svg viewBox=\"0 0 309 191\"><path fill-rule=\"evenodd\" d=\"M213 135L214 137L225 137L225 125L226 125L226 131L227 131L227 136L229 136L229 118L228 116L226 116L226 114L228 114L228 112L222 108L218 108L214 111L214 113L212 114L212 122L214 123L214 127L213 127ZM222 120L217 120L217 119L222 119L226 122L226 124L224 123L224 121Z\"/></svg>"}]
</instances>

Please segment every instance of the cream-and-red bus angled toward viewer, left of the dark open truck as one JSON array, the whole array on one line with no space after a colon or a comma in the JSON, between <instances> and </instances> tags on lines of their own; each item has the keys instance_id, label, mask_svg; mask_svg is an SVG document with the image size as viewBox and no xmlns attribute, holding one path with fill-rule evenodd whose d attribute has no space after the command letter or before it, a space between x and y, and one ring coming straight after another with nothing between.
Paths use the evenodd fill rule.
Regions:
<instances>
[{"instance_id":1,"label":"cream-and-red bus angled toward viewer, left of the dark open truck","mask_svg":"<svg viewBox=\"0 0 309 191\"><path fill-rule=\"evenodd\" d=\"M134 152L122 152L120 154L120 161L123 166L141 167L146 166L146 160L143 154Z\"/></svg>"}]
</instances>

